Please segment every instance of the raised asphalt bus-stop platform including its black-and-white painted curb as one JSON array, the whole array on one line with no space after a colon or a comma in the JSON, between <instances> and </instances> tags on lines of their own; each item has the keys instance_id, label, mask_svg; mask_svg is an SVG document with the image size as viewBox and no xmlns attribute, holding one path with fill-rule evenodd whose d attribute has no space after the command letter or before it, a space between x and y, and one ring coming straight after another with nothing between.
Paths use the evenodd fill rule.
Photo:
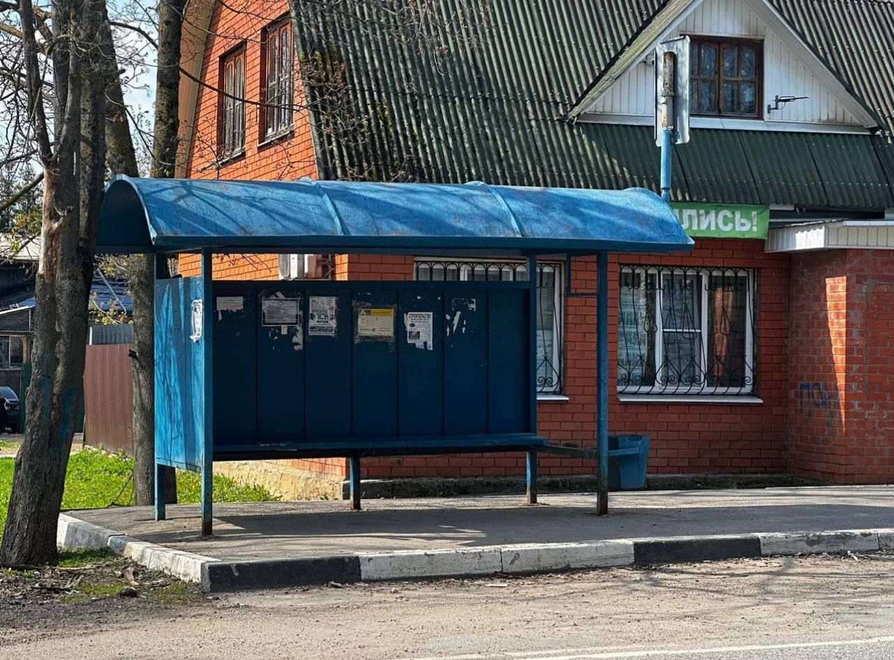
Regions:
<instances>
[{"instance_id":1,"label":"raised asphalt bus-stop platform including its black-and-white painted curb","mask_svg":"<svg viewBox=\"0 0 894 660\"><path fill-rule=\"evenodd\" d=\"M363 512L347 502L218 504L214 537L199 536L197 506L169 506L162 522L148 507L122 507L69 512L92 524L61 520L60 543L112 546L213 589L894 549L894 487L613 494L607 517L594 503L366 500Z\"/></svg>"}]
</instances>

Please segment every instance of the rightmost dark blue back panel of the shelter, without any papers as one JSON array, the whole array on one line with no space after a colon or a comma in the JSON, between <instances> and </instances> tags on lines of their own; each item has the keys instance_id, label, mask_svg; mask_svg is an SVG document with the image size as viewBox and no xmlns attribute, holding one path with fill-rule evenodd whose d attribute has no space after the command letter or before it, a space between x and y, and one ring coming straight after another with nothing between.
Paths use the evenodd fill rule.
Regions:
<instances>
[{"instance_id":1,"label":"rightmost dark blue back panel of the shelter, without any papers","mask_svg":"<svg viewBox=\"0 0 894 660\"><path fill-rule=\"evenodd\" d=\"M491 290L488 298L487 430L518 433L529 426L531 396L527 333L529 294Z\"/></svg>"}]
</instances>

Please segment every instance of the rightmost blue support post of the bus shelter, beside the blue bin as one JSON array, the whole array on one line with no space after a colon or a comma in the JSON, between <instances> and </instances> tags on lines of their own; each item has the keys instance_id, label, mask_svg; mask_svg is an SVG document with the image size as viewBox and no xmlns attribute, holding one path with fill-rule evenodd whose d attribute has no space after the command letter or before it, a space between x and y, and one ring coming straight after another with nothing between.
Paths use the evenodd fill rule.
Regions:
<instances>
[{"instance_id":1,"label":"rightmost blue support post of the bus shelter, beside the blue bin","mask_svg":"<svg viewBox=\"0 0 894 660\"><path fill-rule=\"evenodd\" d=\"M599 450L599 515L609 512L609 256L596 255L596 446Z\"/></svg>"}]
</instances>

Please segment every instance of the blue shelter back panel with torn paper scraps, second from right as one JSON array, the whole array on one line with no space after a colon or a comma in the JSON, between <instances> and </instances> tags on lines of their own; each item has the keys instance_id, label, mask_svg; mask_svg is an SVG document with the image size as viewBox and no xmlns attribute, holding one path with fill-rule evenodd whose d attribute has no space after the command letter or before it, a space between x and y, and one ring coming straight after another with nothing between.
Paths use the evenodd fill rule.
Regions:
<instances>
[{"instance_id":1,"label":"blue shelter back panel with torn paper scraps, second from right","mask_svg":"<svg viewBox=\"0 0 894 660\"><path fill-rule=\"evenodd\" d=\"M487 299L485 288L444 287L444 432L448 436L487 432Z\"/></svg>"}]
</instances>

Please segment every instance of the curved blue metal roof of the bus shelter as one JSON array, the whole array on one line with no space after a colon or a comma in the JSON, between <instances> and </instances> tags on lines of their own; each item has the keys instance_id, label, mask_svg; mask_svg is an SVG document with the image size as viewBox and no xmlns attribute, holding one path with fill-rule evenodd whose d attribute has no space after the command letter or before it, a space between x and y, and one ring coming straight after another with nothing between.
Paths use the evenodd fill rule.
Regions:
<instances>
[{"instance_id":1,"label":"curved blue metal roof of the bus shelter","mask_svg":"<svg viewBox=\"0 0 894 660\"><path fill-rule=\"evenodd\" d=\"M593 254L690 250L649 190L118 176L97 250Z\"/></svg>"}]
</instances>

